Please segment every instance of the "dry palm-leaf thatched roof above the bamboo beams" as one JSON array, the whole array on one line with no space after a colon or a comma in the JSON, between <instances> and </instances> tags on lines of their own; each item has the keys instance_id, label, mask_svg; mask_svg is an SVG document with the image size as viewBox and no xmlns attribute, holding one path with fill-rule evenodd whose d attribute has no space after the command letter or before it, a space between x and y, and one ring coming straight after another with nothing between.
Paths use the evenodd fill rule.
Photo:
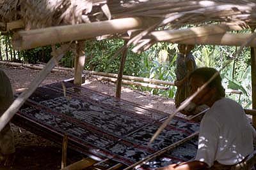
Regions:
<instances>
[{"instance_id":1,"label":"dry palm-leaf thatched roof above the bamboo beams","mask_svg":"<svg viewBox=\"0 0 256 170\"><path fill-rule=\"evenodd\" d=\"M248 29L256 26L256 1L2 0L0 2L2 30L6 29L4 28L6 22L19 19L24 23L24 30L31 30L127 17L140 17L141 20L154 18L155 22L150 21L152 27L145 34L159 30L157 29L159 27L161 30L177 29L188 24L193 24L195 27L195 25L221 23L239 25L240 29ZM169 26L163 27L164 25ZM230 28L227 31L230 31ZM117 32L111 32L112 35L116 35L115 33ZM161 39L155 38L154 41L161 41ZM146 45L147 41L143 43ZM143 48L145 49L147 48Z\"/></svg>"}]
</instances>

